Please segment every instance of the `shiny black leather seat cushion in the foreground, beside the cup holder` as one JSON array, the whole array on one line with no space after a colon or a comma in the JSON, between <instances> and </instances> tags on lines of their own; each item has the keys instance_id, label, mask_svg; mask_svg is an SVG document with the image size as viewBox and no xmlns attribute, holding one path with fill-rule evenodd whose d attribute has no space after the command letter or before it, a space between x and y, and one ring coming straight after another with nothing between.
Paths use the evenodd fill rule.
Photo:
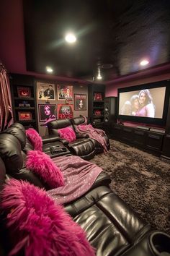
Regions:
<instances>
[{"instance_id":1,"label":"shiny black leather seat cushion in the foreground, beside the cup holder","mask_svg":"<svg viewBox=\"0 0 170 256\"><path fill-rule=\"evenodd\" d=\"M97 187L66 205L73 220L97 248L97 256L121 255L140 239L150 226L108 187Z\"/></svg>"}]
</instances>

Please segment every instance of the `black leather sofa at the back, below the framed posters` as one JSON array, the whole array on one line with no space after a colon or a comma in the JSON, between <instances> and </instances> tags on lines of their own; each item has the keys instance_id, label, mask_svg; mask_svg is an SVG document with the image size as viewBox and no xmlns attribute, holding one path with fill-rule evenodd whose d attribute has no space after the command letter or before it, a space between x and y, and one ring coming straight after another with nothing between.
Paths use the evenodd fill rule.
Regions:
<instances>
[{"instance_id":1,"label":"black leather sofa at the back, below the framed posters","mask_svg":"<svg viewBox=\"0 0 170 256\"><path fill-rule=\"evenodd\" d=\"M95 154L102 153L103 148L97 140L89 138L89 135L85 132L83 134L76 132L76 125L83 124L84 121L84 116L79 116L74 119L57 119L55 121L50 121L48 122L48 133L49 135L55 135L56 140L58 140L58 129L71 127L76 133L76 140L70 143L62 140L61 142L66 145L73 155L79 155L81 158L89 160L90 158L93 158ZM89 119L87 123L89 124ZM49 137L49 139L50 138L51 137ZM107 136L105 136L104 139L107 141L107 149L109 149L109 139ZM45 138L45 140L48 140L48 138ZM45 146L45 150L46 149L47 145Z\"/></svg>"}]
</instances>

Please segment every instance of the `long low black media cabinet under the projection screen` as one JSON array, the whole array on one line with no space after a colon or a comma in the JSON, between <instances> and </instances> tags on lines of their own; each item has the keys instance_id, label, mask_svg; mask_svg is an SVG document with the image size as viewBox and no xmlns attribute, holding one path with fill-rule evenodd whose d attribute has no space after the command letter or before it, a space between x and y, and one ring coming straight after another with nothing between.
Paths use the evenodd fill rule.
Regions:
<instances>
[{"instance_id":1,"label":"long low black media cabinet under the projection screen","mask_svg":"<svg viewBox=\"0 0 170 256\"><path fill-rule=\"evenodd\" d=\"M145 129L146 128L146 129ZM161 155L164 143L164 130L154 132L147 127L138 128L122 124L112 124L112 135L115 140L127 142L134 147L147 150L155 155Z\"/></svg>"}]
</instances>

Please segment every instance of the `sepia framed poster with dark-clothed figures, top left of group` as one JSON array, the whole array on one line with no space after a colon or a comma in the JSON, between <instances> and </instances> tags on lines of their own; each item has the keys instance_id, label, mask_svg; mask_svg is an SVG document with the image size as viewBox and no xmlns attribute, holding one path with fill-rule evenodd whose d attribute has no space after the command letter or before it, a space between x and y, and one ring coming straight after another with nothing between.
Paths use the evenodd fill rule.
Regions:
<instances>
[{"instance_id":1,"label":"sepia framed poster with dark-clothed figures, top left of group","mask_svg":"<svg viewBox=\"0 0 170 256\"><path fill-rule=\"evenodd\" d=\"M55 85L49 82L37 82L37 99L55 101Z\"/></svg>"}]
</instances>

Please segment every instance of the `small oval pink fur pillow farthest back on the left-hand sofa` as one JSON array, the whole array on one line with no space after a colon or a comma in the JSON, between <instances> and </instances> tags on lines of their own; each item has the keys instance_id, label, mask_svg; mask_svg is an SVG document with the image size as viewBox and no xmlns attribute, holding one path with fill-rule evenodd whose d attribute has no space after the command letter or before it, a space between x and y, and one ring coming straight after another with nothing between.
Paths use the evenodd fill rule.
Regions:
<instances>
[{"instance_id":1,"label":"small oval pink fur pillow farthest back on the left-hand sofa","mask_svg":"<svg viewBox=\"0 0 170 256\"><path fill-rule=\"evenodd\" d=\"M26 130L26 135L34 149L42 151L42 138L37 133L37 131L35 131L33 128L29 128Z\"/></svg>"}]
</instances>

